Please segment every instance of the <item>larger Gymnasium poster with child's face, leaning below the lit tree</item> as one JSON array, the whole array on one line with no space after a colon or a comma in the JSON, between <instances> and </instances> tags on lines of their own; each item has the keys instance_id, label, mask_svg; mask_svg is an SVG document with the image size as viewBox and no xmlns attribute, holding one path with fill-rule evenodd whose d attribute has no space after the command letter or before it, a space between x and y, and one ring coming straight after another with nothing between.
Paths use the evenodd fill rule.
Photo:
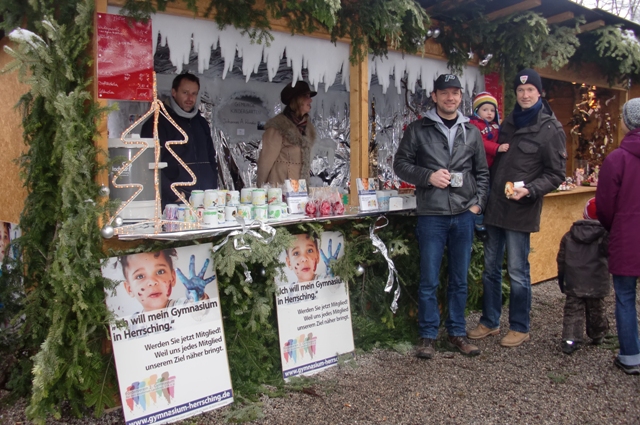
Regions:
<instances>
[{"instance_id":1,"label":"larger Gymnasium poster with child's face, leaning below the lit tree","mask_svg":"<svg viewBox=\"0 0 640 425\"><path fill-rule=\"evenodd\" d=\"M233 402L211 244L110 258L106 302L127 424L168 423Z\"/></svg>"}]
</instances>

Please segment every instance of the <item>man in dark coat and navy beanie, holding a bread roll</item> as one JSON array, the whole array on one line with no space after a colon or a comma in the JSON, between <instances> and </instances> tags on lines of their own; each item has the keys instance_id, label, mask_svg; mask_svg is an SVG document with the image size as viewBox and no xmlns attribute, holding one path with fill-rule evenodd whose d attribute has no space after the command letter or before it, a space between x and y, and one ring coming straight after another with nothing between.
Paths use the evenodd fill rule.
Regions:
<instances>
[{"instance_id":1,"label":"man in dark coat and navy beanie, holding a bread roll","mask_svg":"<svg viewBox=\"0 0 640 425\"><path fill-rule=\"evenodd\" d=\"M491 195L485 212L488 240L484 244L485 270L482 317L468 332L470 339L500 333L502 312L502 261L507 250L511 280L509 332L500 344L517 347L529 340L531 232L540 230L544 195L565 179L566 147L562 124L542 99L542 80L532 69L520 71L514 81L516 106L500 130L500 143L509 150L492 168ZM515 189L505 196L505 185Z\"/></svg>"}]
</instances>

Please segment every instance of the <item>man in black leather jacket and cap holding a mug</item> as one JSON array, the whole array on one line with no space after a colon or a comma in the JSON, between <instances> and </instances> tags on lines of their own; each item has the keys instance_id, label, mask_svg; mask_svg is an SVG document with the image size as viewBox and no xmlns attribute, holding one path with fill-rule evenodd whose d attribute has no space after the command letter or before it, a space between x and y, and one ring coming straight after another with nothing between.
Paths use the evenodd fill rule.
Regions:
<instances>
[{"instance_id":1,"label":"man in black leather jacket and cap holding a mug","mask_svg":"<svg viewBox=\"0 0 640 425\"><path fill-rule=\"evenodd\" d=\"M417 194L420 343L416 355L430 359L435 354L440 326L436 293L445 247L449 343L463 354L477 355L480 350L466 338L464 310L475 215L486 202L489 170L480 132L458 112L462 101L458 77L439 76L431 98L436 107L407 127L393 163L396 174L414 184Z\"/></svg>"}]
</instances>

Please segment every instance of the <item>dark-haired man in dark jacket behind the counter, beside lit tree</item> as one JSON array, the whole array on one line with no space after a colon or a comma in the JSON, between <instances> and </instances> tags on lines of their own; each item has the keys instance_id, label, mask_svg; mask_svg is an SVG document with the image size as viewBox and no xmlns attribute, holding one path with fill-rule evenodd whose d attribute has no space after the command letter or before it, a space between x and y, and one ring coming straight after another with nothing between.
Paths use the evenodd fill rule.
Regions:
<instances>
[{"instance_id":1,"label":"dark-haired man in dark jacket behind the counter, beside lit tree","mask_svg":"<svg viewBox=\"0 0 640 425\"><path fill-rule=\"evenodd\" d=\"M211 138L209 123L200 115L200 80L193 74L180 74L174 80L171 87L169 104L165 105L171 119L187 133L189 138L186 144L171 145L171 149L193 171L196 183L193 186L177 186L176 189L189 199L192 190L205 190L218 188L218 167L216 154ZM147 120L142 126L142 137L153 137L153 119ZM180 162L165 148L165 143L170 140L184 140L174 124L160 115L158 118L158 140L162 151L160 161L166 162L167 167L161 171L162 207L179 200L171 190L173 183L188 183L192 181L189 172Z\"/></svg>"}]
</instances>

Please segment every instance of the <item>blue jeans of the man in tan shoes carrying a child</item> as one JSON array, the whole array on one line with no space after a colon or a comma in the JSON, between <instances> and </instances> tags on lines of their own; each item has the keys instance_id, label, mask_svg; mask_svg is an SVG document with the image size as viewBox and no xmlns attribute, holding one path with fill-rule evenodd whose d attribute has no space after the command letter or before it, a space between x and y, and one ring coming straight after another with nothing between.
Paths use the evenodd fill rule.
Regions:
<instances>
[{"instance_id":1,"label":"blue jeans of the man in tan shoes carrying a child","mask_svg":"<svg viewBox=\"0 0 640 425\"><path fill-rule=\"evenodd\" d=\"M502 261L507 250L507 272L511 279L509 329L529 332L531 311L531 274L529 273L530 233L487 226L482 272L482 317L480 323L495 329L502 314Z\"/></svg>"}]
</instances>

